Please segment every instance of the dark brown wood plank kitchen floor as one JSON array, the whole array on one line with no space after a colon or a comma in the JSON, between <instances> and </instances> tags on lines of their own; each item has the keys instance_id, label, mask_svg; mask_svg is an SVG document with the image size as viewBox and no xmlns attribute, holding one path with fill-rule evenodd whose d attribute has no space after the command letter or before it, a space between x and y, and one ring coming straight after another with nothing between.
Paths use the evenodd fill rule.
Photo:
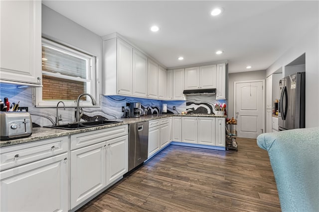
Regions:
<instances>
[{"instance_id":1,"label":"dark brown wood plank kitchen floor","mask_svg":"<svg viewBox=\"0 0 319 212\"><path fill-rule=\"evenodd\" d=\"M256 139L238 152L170 145L79 212L276 212L268 154Z\"/></svg>"}]
</instances>

